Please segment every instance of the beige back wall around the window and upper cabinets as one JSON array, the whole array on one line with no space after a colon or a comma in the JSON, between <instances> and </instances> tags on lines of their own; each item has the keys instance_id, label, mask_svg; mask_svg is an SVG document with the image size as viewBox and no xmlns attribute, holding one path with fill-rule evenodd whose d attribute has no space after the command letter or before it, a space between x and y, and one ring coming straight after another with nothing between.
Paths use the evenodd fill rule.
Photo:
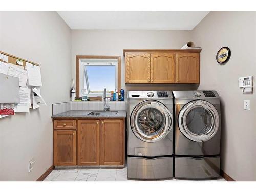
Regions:
<instances>
[{"instance_id":1,"label":"beige back wall around the window and upper cabinets","mask_svg":"<svg viewBox=\"0 0 256 192\"><path fill-rule=\"evenodd\" d=\"M191 39L191 31L72 30L72 77L76 55L117 55L121 58L121 88L125 90L196 89L196 85L125 85L123 49L180 49Z\"/></svg>"}]
</instances>

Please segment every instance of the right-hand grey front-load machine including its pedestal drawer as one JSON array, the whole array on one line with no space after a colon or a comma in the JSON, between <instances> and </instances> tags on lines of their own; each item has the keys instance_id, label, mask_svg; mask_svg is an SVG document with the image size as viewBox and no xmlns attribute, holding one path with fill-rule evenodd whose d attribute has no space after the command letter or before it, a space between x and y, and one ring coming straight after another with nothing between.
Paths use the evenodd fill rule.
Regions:
<instances>
[{"instance_id":1,"label":"right-hand grey front-load machine including its pedestal drawer","mask_svg":"<svg viewBox=\"0 0 256 192\"><path fill-rule=\"evenodd\" d=\"M221 109L216 91L173 91L175 104L174 176L220 177Z\"/></svg>"}]
</instances>

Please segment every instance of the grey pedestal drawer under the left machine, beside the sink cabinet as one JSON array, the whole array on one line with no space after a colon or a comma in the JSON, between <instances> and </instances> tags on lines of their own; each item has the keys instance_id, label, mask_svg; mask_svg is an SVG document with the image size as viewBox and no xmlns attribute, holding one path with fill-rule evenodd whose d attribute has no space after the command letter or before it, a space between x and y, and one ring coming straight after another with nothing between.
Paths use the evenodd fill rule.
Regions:
<instances>
[{"instance_id":1,"label":"grey pedestal drawer under the left machine, beside the sink cabinet","mask_svg":"<svg viewBox=\"0 0 256 192\"><path fill-rule=\"evenodd\" d=\"M127 157L130 179L166 179L173 177L173 157Z\"/></svg>"}]
</instances>

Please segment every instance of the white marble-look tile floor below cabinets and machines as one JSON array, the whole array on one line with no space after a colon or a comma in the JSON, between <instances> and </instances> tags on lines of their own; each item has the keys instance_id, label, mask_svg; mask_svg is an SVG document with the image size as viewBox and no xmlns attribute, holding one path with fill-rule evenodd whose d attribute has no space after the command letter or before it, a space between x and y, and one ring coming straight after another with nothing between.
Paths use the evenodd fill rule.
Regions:
<instances>
[{"instance_id":1,"label":"white marble-look tile floor below cabinets and machines","mask_svg":"<svg viewBox=\"0 0 256 192\"><path fill-rule=\"evenodd\" d=\"M127 167L123 169L62 169L53 170L44 181L135 181L127 179ZM187 181L170 179L164 181ZM226 181L224 178L210 181Z\"/></svg>"}]
</instances>

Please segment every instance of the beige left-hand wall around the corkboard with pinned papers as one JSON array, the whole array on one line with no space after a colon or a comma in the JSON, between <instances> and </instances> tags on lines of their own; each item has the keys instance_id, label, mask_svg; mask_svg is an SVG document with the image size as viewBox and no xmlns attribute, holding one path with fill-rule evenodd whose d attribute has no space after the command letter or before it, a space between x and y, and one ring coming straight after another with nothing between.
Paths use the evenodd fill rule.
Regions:
<instances>
[{"instance_id":1,"label":"beige left-hand wall around the corkboard with pinned papers","mask_svg":"<svg viewBox=\"0 0 256 192\"><path fill-rule=\"evenodd\" d=\"M56 12L0 12L0 50L41 66L47 106L0 119L0 181L33 181L52 165L51 104L70 99L71 30Z\"/></svg>"}]
</instances>

